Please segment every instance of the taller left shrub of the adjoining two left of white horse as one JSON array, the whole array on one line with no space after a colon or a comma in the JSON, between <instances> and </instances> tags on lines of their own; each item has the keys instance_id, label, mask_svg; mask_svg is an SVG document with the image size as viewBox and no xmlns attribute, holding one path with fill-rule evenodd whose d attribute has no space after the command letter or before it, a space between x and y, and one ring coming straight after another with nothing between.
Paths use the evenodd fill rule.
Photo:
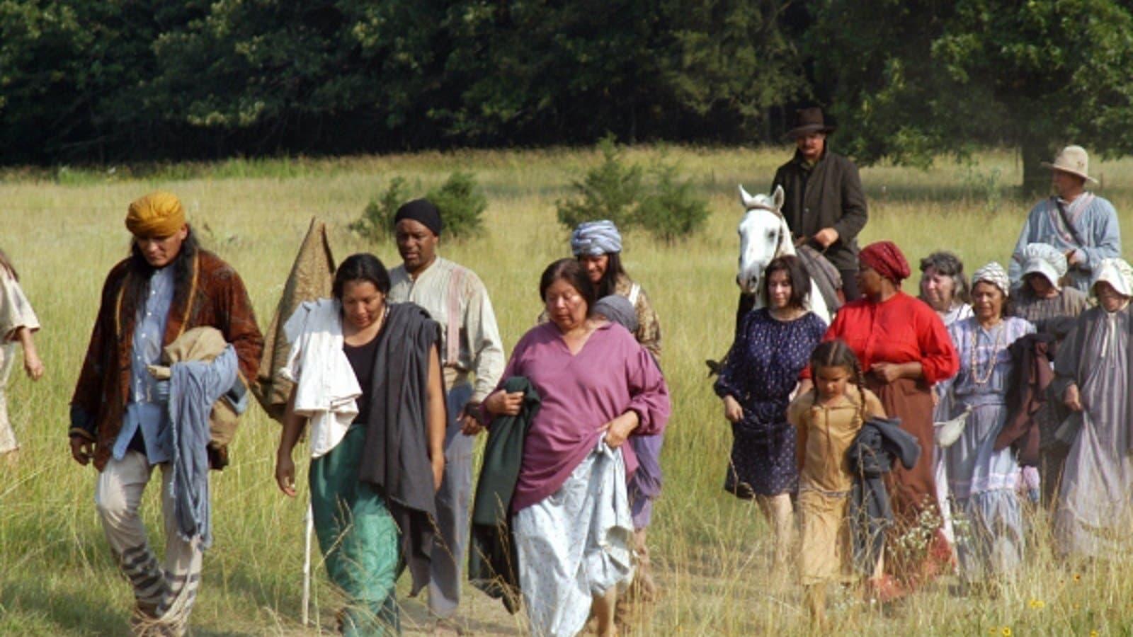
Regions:
<instances>
[{"instance_id":1,"label":"taller left shrub of the adjoining two left of white horse","mask_svg":"<svg viewBox=\"0 0 1133 637\"><path fill-rule=\"evenodd\" d=\"M598 142L602 163L591 168L581 181L573 181L574 197L557 202L559 222L574 228L583 221L608 219L619 228L628 228L644 192L644 173L639 165L625 165L622 150L607 135Z\"/></svg>"}]
</instances>

